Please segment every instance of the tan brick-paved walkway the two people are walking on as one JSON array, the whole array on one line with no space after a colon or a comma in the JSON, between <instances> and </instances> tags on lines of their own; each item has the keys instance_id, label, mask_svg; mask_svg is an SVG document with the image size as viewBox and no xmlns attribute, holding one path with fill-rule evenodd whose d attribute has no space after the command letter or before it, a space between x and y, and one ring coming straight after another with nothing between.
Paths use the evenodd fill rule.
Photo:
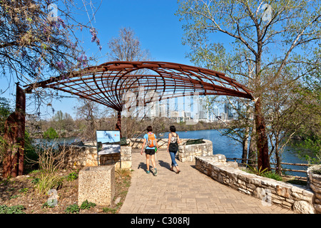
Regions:
<instances>
[{"instance_id":1,"label":"tan brick-paved walkway the two people are walking on","mask_svg":"<svg viewBox=\"0 0 321 228\"><path fill-rule=\"evenodd\" d=\"M146 174L146 157L133 150L131 187L122 214L294 213L276 205L263 206L260 199L216 182L195 169L195 162L179 162L180 174L169 170L170 156L157 154L158 175Z\"/></svg>"}]
</instances>

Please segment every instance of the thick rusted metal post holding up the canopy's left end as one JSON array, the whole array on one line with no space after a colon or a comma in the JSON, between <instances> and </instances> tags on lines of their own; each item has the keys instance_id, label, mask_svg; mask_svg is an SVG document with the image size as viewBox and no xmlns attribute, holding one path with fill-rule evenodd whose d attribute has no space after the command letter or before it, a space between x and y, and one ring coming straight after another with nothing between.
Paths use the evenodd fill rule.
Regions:
<instances>
[{"instance_id":1,"label":"thick rusted metal post holding up the canopy's left end","mask_svg":"<svg viewBox=\"0 0 321 228\"><path fill-rule=\"evenodd\" d=\"M3 176L16 177L24 172L24 132L25 132L26 94L16 83L16 110L6 119L4 140L6 156L4 157Z\"/></svg>"}]
</instances>

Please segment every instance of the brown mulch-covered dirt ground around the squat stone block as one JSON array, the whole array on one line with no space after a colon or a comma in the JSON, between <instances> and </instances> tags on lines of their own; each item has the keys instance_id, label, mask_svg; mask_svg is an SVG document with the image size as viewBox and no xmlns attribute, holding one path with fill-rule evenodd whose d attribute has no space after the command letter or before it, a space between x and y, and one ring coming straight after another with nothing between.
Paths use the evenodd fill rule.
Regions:
<instances>
[{"instance_id":1,"label":"brown mulch-covered dirt ground around the squat stone block","mask_svg":"<svg viewBox=\"0 0 321 228\"><path fill-rule=\"evenodd\" d=\"M68 177L75 170L62 170L59 175ZM0 176L0 206L8 207L15 205L24 206L23 212L26 214L66 214L65 210L72 204L78 204L78 178L67 180L62 178L62 185L58 188L58 204L56 207L46 207L49 195L39 194L35 189L33 180L37 174L22 175L15 178L3 179ZM121 209L121 205L126 198L128 188L131 183L130 171L116 174L115 197L109 207L91 207L90 209L80 209L80 214L116 214Z\"/></svg>"}]
</instances>

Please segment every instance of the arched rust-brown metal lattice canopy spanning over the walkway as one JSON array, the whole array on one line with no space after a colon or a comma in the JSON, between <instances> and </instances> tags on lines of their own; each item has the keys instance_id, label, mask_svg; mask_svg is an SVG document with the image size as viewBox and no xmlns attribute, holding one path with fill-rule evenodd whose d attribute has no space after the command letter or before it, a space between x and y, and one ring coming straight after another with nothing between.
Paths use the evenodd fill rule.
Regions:
<instances>
[{"instance_id":1,"label":"arched rust-brown metal lattice canopy spanning over the walkway","mask_svg":"<svg viewBox=\"0 0 321 228\"><path fill-rule=\"evenodd\" d=\"M27 93L38 87L61 90L96 101L118 112L124 108L126 93L135 94L144 105L153 99L164 100L195 94L253 99L252 91L233 78L226 77L224 73L158 61L107 62L25 87Z\"/></svg>"}]
</instances>

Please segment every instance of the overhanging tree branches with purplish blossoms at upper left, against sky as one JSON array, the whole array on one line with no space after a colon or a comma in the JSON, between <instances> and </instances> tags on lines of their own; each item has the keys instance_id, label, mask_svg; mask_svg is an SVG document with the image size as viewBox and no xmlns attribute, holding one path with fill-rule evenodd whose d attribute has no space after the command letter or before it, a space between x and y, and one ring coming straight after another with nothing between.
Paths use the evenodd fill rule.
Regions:
<instances>
[{"instance_id":1,"label":"overhanging tree branches with purplish blossoms at upper left, against sky","mask_svg":"<svg viewBox=\"0 0 321 228\"><path fill-rule=\"evenodd\" d=\"M83 8L87 4L83 1ZM1 76L30 84L86 66L89 59L77 33L88 29L101 46L91 19L77 20L80 10L72 0L0 1Z\"/></svg>"}]
</instances>

